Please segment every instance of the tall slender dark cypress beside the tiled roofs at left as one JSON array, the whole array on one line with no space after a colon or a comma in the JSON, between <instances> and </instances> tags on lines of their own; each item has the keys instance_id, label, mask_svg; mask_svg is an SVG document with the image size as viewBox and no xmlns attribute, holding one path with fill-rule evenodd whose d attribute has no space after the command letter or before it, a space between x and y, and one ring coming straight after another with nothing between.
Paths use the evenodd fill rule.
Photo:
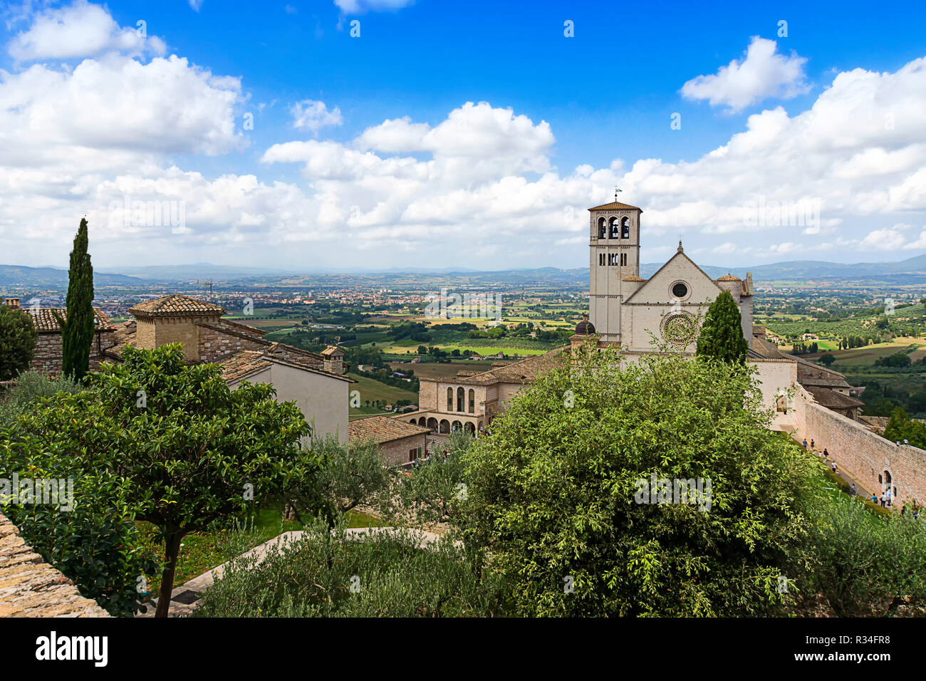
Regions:
<instances>
[{"instance_id":1,"label":"tall slender dark cypress beside the tiled roofs at left","mask_svg":"<svg viewBox=\"0 0 926 681\"><path fill-rule=\"evenodd\" d=\"M55 314L61 324L62 373L81 381L90 369L90 347L94 342L94 267L87 253L87 219L74 236L68 270L67 319Z\"/></svg>"}]
</instances>

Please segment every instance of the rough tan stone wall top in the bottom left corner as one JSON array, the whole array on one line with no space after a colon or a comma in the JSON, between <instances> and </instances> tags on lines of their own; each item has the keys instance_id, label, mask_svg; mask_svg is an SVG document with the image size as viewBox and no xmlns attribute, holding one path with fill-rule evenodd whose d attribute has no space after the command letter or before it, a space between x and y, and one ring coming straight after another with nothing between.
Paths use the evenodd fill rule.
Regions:
<instances>
[{"instance_id":1,"label":"rough tan stone wall top in the bottom left corner","mask_svg":"<svg viewBox=\"0 0 926 681\"><path fill-rule=\"evenodd\" d=\"M0 513L0 617L108 617L27 546Z\"/></svg>"}]
</instances>

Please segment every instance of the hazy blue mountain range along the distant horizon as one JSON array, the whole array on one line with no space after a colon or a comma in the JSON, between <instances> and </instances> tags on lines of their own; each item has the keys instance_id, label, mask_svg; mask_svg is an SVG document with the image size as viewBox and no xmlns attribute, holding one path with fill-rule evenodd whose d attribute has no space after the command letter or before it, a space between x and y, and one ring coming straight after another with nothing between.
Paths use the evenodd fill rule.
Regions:
<instances>
[{"instance_id":1,"label":"hazy blue mountain range along the distant horizon","mask_svg":"<svg viewBox=\"0 0 926 681\"><path fill-rule=\"evenodd\" d=\"M640 274L652 276L663 263L643 263ZM715 267L702 265L701 269L711 277L733 274L744 278L751 271L755 282L774 281L858 281L862 279L887 280L897 283L926 283L926 255L900 260L898 262L824 262L820 260L794 260L774 262L769 265L752 267ZM392 268L382 271L285 271L256 267L235 267L214 265L211 263L194 263L191 265L152 265L148 267L119 267L117 273L94 271L94 284L97 286L143 286L145 284L193 282L196 279L211 279L217 284L232 283L244 279L268 280L288 277L307 277L319 275L357 275L359 277L394 277L402 274L418 275L425 279L456 275L469 279L472 283L482 284L534 284L534 283L576 283L588 280L586 268L560 270L555 267L542 267L522 270L478 271L468 268L450 268L447 270L427 268ZM0 265L0 286L25 286L32 288L56 288L67 286L68 271L52 267L25 267L22 265Z\"/></svg>"}]
</instances>

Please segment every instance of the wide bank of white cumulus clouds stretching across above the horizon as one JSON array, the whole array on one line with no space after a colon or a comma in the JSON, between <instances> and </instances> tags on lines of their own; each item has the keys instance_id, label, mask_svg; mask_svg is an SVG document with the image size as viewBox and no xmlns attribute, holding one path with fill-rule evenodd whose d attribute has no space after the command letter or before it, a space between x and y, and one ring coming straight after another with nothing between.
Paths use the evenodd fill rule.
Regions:
<instances>
[{"instance_id":1,"label":"wide bank of white cumulus clouds stretching across above the horizon","mask_svg":"<svg viewBox=\"0 0 926 681\"><path fill-rule=\"evenodd\" d=\"M716 259L705 264L807 251L900 259L926 248L926 59L839 73L806 111L764 110L723 145L678 162L557 168L546 121L487 102L463 103L443 120L383 120L344 141L282 136L253 173L206 174L171 158L241 149L242 100L238 79L176 56L142 63L110 50L74 68L0 72L8 261L66 261L86 213L101 263L214 261L220 252L306 269L324 254L383 268L579 266L584 207L609 200L615 183L645 210L644 261L671 255L679 232L692 252ZM343 116L306 100L296 120L320 135ZM272 179L291 166L301 177ZM113 223L107 207L127 196L182 202L188 230Z\"/></svg>"}]
</instances>

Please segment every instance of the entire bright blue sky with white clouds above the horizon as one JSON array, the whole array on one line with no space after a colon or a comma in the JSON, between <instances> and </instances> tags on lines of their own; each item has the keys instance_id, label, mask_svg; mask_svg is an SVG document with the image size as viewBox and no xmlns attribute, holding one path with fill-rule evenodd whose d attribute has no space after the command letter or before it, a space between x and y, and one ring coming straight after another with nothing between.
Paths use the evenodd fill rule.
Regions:
<instances>
[{"instance_id":1,"label":"entire bright blue sky with white clouds above the horizon","mask_svg":"<svg viewBox=\"0 0 926 681\"><path fill-rule=\"evenodd\" d=\"M6 9L0 259L582 267L614 183L644 261L926 251L923 6L194 4Z\"/></svg>"}]
</instances>

